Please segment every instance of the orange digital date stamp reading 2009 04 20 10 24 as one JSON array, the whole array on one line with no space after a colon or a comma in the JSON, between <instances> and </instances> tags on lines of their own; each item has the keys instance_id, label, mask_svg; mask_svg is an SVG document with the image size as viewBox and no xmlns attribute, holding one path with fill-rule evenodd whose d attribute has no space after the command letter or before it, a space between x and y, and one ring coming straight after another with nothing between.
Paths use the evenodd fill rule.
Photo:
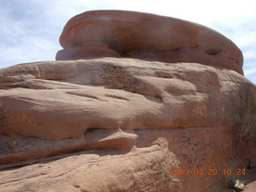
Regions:
<instances>
[{"instance_id":1,"label":"orange digital date stamp reading 2009 04 20 10 24","mask_svg":"<svg viewBox=\"0 0 256 192\"><path fill-rule=\"evenodd\" d=\"M246 169L222 169L218 170L215 168L209 168L209 169L170 169L170 175L209 175L209 176L216 176L217 174L224 174L224 175L231 175L231 174L236 174L236 175L245 175L246 174Z\"/></svg>"}]
</instances>

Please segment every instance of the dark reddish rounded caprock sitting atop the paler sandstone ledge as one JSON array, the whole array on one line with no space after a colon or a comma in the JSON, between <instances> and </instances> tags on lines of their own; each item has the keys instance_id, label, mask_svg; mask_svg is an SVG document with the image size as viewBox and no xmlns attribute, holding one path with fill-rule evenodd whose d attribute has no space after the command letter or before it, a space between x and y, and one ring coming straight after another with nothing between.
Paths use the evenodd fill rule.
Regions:
<instances>
[{"instance_id":1,"label":"dark reddish rounded caprock sitting atop the paler sandstone ledge","mask_svg":"<svg viewBox=\"0 0 256 192\"><path fill-rule=\"evenodd\" d=\"M242 71L242 52L222 34L193 22L120 10L78 14L67 22L57 60L125 57L197 62Z\"/></svg>"}]
</instances>

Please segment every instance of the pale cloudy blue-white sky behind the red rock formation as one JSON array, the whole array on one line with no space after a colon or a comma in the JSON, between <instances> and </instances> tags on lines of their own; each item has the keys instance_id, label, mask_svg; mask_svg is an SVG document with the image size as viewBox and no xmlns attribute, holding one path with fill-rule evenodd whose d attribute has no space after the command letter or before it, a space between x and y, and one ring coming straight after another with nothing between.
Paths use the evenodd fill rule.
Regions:
<instances>
[{"instance_id":1,"label":"pale cloudy blue-white sky behind the red rock formation","mask_svg":"<svg viewBox=\"0 0 256 192\"><path fill-rule=\"evenodd\" d=\"M87 10L136 10L209 26L242 50L245 76L256 83L255 0L0 0L0 68L54 60L66 22Z\"/></svg>"}]
</instances>

